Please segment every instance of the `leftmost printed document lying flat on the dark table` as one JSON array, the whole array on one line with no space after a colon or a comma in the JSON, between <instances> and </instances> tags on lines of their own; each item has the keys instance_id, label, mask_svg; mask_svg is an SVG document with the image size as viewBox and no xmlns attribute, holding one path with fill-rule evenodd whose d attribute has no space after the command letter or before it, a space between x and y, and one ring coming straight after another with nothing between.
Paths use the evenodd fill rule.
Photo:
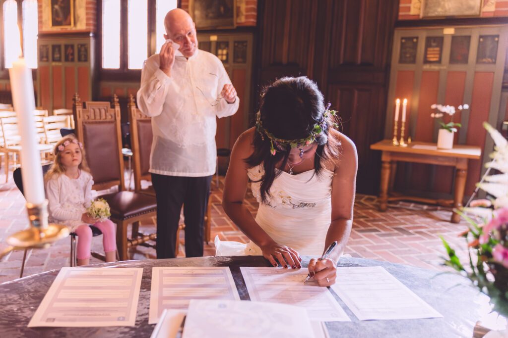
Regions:
<instances>
[{"instance_id":1,"label":"leftmost printed document lying flat on the dark table","mask_svg":"<svg viewBox=\"0 0 508 338\"><path fill-rule=\"evenodd\" d=\"M143 269L62 268L28 327L134 326Z\"/></svg>"}]
</instances>

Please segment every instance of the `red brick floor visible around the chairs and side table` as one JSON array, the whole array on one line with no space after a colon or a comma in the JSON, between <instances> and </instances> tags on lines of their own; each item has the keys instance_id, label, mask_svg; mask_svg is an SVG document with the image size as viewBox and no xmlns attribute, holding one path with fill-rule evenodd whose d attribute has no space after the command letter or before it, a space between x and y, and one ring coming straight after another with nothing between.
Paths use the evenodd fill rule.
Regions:
<instances>
[{"instance_id":1,"label":"red brick floor visible around the chairs and side table","mask_svg":"<svg viewBox=\"0 0 508 338\"><path fill-rule=\"evenodd\" d=\"M223 177L220 186L212 183L212 241L215 235L221 240L246 242L247 238L225 214L221 203L223 193ZM0 174L0 182L5 176ZM5 239L12 233L27 226L24 208L25 200L17 190L12 177L9 182L0 184L0 250L7 247ZM258 203L250 192L247 194L246 205L255 213ZM358 195L355 201L355 220L350 240L345 253L353 257L364 257L387 260L401 264L428 268L448 269L440 266L444 249L439 236L443 236L464 257L464 240L457 234L466 228L466 223L449 222L450 210L421 204L399 202L392 205L387 212L378 212L376 197ZM142 221L141 231L152 233L155 226L152 219ZM179 257L184 256L183 232L180 234ZM36 274L63 266L69 266L70 240L62 239L45 250L29 250L24 275ZM96 237L92 249L102 251L101 237ZM204 244L205 255L215 253L214 244ZM132 259L155 258L155 250L138 246L131 251ZM23 257L22 251L12 252L0 261L0 282L19 277L19 268ZM92 264L101 262L91 258Z\"/></svg>"}]
</instances>

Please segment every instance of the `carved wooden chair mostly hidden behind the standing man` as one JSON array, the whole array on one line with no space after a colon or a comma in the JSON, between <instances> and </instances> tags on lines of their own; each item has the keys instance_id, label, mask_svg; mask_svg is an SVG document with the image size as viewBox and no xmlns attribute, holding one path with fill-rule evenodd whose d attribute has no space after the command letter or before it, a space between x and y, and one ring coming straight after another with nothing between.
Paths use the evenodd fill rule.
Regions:
<instances>
[{"instance_id":1,"label":"carved wooden chair mostly hidden behind the standing man","mask_svg":"<svg viewBox=\"0 0 508 338\"><path fill-rule=\"evenodd\" d=\"M144 179L151 181L151 174L148 171L150 169L150 151L152 147L152 138L153 138L151 118L147 115L144 115L141 112L141 110L139 110L136 107L136 102L132 94L129 96L129 102L127 104L127 107L129 109L129 122L131 126L131 146L134 162L133 166L134 190L137 192L155 195L155 191L151 186L149 187L149 189L145 190L141 189L141 180ZM208 198L208 205L205 213L205 234L204 234L204 238L207 244L211 241L210 211L211 211L211 198ZM185 229L185 225L179 224L176 233L177 242L175 257L178 255L178 246L179 246L178 237L180 234L180 230L183 229Z\"/></svg>"}]
</instances>

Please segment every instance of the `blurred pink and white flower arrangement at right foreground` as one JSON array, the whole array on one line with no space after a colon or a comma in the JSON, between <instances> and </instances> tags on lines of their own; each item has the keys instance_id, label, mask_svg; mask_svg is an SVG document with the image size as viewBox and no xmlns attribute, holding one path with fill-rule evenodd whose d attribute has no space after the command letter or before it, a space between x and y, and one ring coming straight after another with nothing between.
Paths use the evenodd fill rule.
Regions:
<instances>
[{"instance_id":1,"label":"blurred pink and white flower arrangement at right foreground","mask_svg":"<svg viewBox=\"0 0 508 338\"><path fill-rule=\"evenodd\" d=\"M466 240L469 269L464 268L455 250L442 237L441 240L449 257L445 264L486 293L495 311L508 315L508 142L488 123L484 127L495 146L477 190L482 189L492 198L474 200L470 206L455 210L468 222L468 229L460 236ZM500 173L489 175L492 169Z\"/></svg>"}]
</instances>

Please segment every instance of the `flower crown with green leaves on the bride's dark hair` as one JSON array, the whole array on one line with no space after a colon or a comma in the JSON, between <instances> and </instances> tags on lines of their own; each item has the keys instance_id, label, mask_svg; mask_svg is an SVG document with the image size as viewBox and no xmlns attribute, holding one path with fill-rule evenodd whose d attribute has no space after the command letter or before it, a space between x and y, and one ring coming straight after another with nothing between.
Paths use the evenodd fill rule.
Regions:
<instances>
[{"instance_id":1,"label":"flower crown with green leaves on the bride's dark hair","mask_svg":"<svg viewBox=\"0 0 508 338\"><path fill-rule=\"evenodd\" d=\"M258 110L258 113L256 114L256 130L261 135L261 139L265 140L265 136L270 139L270 154L272 156L276 153L276 148L279 151L285 150L286 146L291 145L292 148L300 148L300 158L303 157L303 145L310 144L316 140L318 136L320 136L324 130L328 128L328 125L332 125L334 128L338 128L338 124L333 122L333 119L337 115L336 110L330 109L330 103L328 103L327 107L325 108L325 112L323 113L323 119L321 121L316 122L314 126L312 127L309 136L305 138L300 138L296 140L286 140L283 138L275 137L272 133L270 133L268 130L266 130L263 127L263 124L261 122L261 110ZM275 144L275 146L274 146Z\"/></svg>"}]
</instances>

